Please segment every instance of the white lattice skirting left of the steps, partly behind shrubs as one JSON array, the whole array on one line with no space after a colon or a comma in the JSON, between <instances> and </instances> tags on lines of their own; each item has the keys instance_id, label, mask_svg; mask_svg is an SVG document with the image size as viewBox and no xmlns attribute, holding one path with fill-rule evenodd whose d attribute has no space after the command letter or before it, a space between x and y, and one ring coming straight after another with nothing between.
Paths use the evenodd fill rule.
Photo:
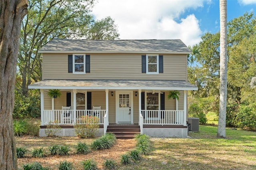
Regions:
<instances>
[{"instance_id":1,"label":"white lattice skirting left of the steps, partly behind shrubs","mask_svg":"<svg viewBox=\"0 0 256 170\"><path fill-rule=\"evenodd\" d=\"M54 133L55 136L76 136L74 128L59 128L59 129L50 129L50 128L40 128L39 136L47 136L46 131ZM95 136L102 136L104 134L104 129L99 128Z\"/></svg>"}]
</instances>

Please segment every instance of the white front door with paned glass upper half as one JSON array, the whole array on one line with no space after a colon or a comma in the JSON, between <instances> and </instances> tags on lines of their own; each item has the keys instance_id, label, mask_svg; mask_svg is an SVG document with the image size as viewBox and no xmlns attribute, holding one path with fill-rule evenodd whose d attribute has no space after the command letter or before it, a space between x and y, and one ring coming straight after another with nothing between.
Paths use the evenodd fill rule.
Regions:
<instances>
[{"instance_id":1,"label":"white front door with paned glass upper half","mask_svg":"<svg viewBox=\"0 0 256 170\"><path fill-rule=\"evenodd\" d=\"M116 91L116 123L133 123L132 91Z\"/></svg>"}]
</instances>

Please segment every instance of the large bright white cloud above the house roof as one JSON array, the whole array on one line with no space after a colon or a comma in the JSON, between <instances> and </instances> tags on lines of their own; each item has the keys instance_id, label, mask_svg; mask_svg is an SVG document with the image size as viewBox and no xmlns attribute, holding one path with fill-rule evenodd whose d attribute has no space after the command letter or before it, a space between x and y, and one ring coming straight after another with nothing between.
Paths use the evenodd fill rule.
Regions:
<instances>
[{"instance_id":1,"label":"large bright white cloud above the house roof","mask_svg":"<svg viewBox=\"0 0 256 170\"><path fill-rule=\"evenodd\" d=\"M120 39L181 39L199 43L199 21L180 14L203 7L202 0L98 0L92 10L96 20L110 16L118 25Z\"/></svg>"}]
</instances>

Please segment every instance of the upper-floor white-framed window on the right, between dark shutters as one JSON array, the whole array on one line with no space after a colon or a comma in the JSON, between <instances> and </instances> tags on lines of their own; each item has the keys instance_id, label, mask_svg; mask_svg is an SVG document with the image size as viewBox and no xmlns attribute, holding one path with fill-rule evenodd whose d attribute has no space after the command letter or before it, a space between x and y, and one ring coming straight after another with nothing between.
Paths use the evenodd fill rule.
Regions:
<instances>
[{"instance_id":1,"label":"upper-floor white-framed window on the right, between dark shutters","mask_svg":"<svg viewBox=\"0 0 256 170\"><path fill-rule=\"evenodd\" d=\"M146 55L146 73L147 74L158 74L159 73L159 55L158 54L147 54Z\"/></svg>"}]
</instances>

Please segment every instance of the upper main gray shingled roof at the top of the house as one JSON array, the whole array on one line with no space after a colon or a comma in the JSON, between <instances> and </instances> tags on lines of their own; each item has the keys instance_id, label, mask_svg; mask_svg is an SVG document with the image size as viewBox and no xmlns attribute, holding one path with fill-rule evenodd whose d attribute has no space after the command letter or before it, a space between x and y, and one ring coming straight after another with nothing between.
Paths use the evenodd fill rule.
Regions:
<instances>
[{"instance_id":1,"label":"upper main gray shingled roof at the top of the house","mask_svg":"<svg viewBox=\"0 0 256 170\"><path fill-rule=\"evenodd\" d=\"M67 40L53 39L40 53L51 52L114 52L114 53L191 53L181 40Z\"/></svg>"}]
</instances>

